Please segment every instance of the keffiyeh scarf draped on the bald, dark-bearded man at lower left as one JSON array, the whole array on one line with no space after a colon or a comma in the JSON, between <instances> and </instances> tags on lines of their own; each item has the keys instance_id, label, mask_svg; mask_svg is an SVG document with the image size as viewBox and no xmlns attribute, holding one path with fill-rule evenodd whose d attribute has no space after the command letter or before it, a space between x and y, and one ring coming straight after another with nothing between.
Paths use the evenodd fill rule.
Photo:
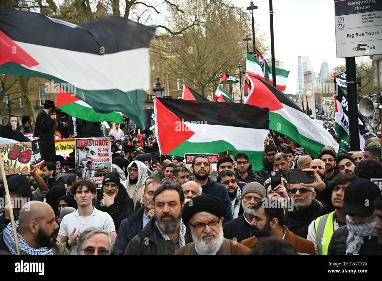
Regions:
<instances>
[{"instance_id":1,"label":"keffiyeh scarf draped on the bald, dark-bearded man at lower left","mask_svg":"<svg viewBox=\"0 0 382 281\"><path fill-rule=\"evenodd\" d=\"M16 231L19 230L19 221L15 221ZM32 248L24 240L23 236L17 232L17 238L19 240L19 251L21 255L53 255L52 248L40 247L39 249ZM8 247L11 255L17 255L15 237L13 236L12 223L4 229L3 239L6 247Z\"/></svg>"}]
</instances>

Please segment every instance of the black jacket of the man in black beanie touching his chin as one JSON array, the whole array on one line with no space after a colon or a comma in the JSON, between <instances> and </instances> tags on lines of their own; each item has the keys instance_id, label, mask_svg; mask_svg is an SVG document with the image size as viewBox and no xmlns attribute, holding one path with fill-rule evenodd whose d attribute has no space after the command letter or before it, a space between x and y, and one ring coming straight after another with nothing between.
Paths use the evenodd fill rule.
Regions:
<instances>
[{"instance_id":1,"label":"black jacket of the man in black beanie touching his chin","mask_svg":"<svg viewBox=\"0 0 382 281\"><path fill-rule=\"evenodd\" d=\"M114 204L105 207L101 206L101 200L104 198L104 188L97 195L97 198L93 200L93 206L97 210L107 212L113 219L115 232L118 232L121 222L126 218L126 215L134 211L134 201L127 194L126 188L120 184L118 187L117 197L114 199Z\"/></svg>"}]
</instances>

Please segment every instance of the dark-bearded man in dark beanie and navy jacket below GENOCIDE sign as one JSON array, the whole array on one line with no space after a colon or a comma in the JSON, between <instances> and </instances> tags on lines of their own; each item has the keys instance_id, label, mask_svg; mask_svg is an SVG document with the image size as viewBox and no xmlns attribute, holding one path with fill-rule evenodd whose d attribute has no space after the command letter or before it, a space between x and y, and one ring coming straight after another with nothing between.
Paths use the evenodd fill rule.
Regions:
<instances>
[{"instance_id":1,"label":"dark-bearded man in dark beanie and navy jacket below GENOCIDE sign","mask_svg":"<svg viewBox=\"0 0 382 281\"><path fill-rule=\"evenodd\" d=\"M201 185L204 194L214 195L223 201L225 206L224 222L230 221L232 219L232 211L227 188L208 177L210 169L210 161L204 154L195 156L189 168L190 172L194 175L194 181Z\"/></svg>"}]
</instances>

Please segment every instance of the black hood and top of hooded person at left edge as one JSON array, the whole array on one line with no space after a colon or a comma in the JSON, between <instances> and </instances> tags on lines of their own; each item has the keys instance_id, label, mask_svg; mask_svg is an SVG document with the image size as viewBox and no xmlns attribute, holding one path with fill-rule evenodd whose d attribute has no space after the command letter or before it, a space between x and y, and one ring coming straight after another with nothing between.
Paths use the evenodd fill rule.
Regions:
<instances>
[{"instance_id":1,"label":"black hood and top of hooded person at left edge","mask_svg":"<svg viewBox=\"0 0 382 281\"><path fill-rule=\"evenodd\" d=\"M7 179L9 192L15 191L20 194L20 198L24 198L24 203L34 200L31 184L25 175L13 175ZM6 202L5 198L5 187L1 185L0 187L0 198L3 198L4 202ZM3 206L2 206L3 207ZM15 216L15 220L18 219L19 209L13 209L13 215ZM5 211L0 215L0 223L8 224L10 223L10 219L5 218Z\"/></svg>"}]
</instances>

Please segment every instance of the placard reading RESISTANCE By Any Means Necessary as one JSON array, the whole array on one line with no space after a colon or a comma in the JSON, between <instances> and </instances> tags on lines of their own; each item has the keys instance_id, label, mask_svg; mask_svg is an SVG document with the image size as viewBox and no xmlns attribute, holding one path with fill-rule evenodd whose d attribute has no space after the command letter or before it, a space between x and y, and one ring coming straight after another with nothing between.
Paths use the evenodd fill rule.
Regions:
<instances>
[{"instance_id":1,"label":"placard reading RESISTANCE By Any Means Necessary","mask_svg":"<svg viewBox=\"0 0 382 281\"><path fill-rule=\"evenodd\" d=\"M112 170L110 138L76 138L76 180L89 179L102 184Z\"/></svg>"}]
</instances>

